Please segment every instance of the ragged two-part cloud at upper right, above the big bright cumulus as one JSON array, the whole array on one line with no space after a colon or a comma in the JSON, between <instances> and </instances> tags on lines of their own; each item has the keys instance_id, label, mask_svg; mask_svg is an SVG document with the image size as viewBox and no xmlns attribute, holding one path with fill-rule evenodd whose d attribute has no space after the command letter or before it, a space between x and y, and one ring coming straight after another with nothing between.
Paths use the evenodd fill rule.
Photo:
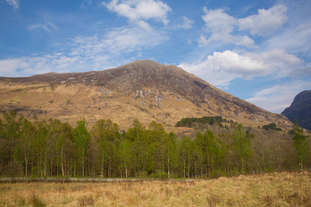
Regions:
<instances>
[{"instance_id":1,"label":"ragged two-part cloud at upper right, above the big bright cumulus","mask_svg":"<svg viewBox=\"0 0 311 207\"><path fill-rule=\"evenodd\" d=\"M236 32L247 32L256 35L267 35L274 32L288 20L285 12L286 6L278 5L269 10L258 10L258 14L237 19L225 12L223 9L208 10L204 8L205 32L201 34L198 42L200 46L207 46L213 41L222 43L234 43L237 46L251 48L255 42L247 34L236 34ZM269 19L269 20L268 20ZM209 36L208 38L206 36Z\"/></svg>"}]
</instances>

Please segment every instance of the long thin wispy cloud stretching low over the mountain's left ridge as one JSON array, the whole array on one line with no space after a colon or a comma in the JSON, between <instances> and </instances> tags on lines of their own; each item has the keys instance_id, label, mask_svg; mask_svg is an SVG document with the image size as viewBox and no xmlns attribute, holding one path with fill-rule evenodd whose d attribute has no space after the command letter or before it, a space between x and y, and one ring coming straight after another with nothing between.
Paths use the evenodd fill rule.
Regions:
<instances>
[{"instance_id":1,"label":"long thin wispy cloud stretching low over the mountain's left ridge","mask_svg":"<svg viewBox=\"0 0 311 207\"><path fill-rule=\"evenodd\" d=\"M135 55L141 50L156 46L167 35L153 28L125 26L113 28L104 34L75 37L70 50L52 55L32 55L17 59L0 60L0 76L23 77L45 72L77 72L104 70L129 63L122 55ZM115 61L117 59L117 61Z\"/></svg>"}]
</instances>

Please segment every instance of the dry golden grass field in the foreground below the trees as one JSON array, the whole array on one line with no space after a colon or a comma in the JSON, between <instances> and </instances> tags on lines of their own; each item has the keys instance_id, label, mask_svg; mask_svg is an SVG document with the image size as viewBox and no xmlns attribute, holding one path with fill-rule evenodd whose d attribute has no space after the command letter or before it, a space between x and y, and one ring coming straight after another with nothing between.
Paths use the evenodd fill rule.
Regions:
<instances>
[{"instance_id":1,"label":"dry golden grass field in the foreground below the trees","mask_svg":"<svg viewBox=\"0 0 311 207\"><path fill-rule=\"evenodd\" d=\"M0 184L0 206L311 206L311 173L202 181Z\"/></svg>"}]
</instances>

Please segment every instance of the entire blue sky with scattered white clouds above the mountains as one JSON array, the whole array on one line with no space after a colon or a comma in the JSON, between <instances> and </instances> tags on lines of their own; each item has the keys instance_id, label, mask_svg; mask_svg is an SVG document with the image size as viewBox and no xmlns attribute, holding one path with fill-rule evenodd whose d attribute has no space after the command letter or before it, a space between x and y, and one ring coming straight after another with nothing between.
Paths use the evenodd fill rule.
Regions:
<instances>
[{"instance_id":1,"label":"entire blue sky with scattered white clouds above the mountains","mask_svg":"<svg viewBox=\"0 0 311 207\"><path fill-rule=\"evenodd\" d=\"M310 10L310 0L0 0L0 76L152 59L282 112L311 89Z\"/></svg>"}]
</instances>

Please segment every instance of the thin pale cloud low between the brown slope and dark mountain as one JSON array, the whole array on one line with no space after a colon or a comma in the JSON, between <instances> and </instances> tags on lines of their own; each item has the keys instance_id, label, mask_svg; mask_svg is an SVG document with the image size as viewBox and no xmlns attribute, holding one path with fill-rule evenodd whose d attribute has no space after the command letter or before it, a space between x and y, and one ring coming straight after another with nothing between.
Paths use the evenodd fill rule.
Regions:
<instances>
[{"instance_id":1,"label":"thin pale cloud low between the brown slope and dark mountain","mask_svg":"<svg viewBox=\"0 0 311 207\"><path fill-rule=\"evenodd\" d=\"M296 80L288 83L279 83L270 88L265 88L246 99L265 110L281 113L290 106L294 97L303 90L310 90L310 81Z\"/></svg>"}]
</instances>

